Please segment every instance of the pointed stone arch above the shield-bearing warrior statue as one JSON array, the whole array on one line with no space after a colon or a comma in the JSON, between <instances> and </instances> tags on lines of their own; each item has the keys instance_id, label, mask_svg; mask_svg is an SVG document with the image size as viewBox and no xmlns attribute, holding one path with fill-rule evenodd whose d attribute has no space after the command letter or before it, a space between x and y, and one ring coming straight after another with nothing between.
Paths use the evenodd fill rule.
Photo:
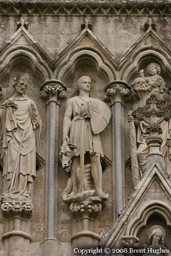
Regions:
<instances>
[{"instance_id":1,"label":"pointed stone arch above the shield-bearing warrior statue","mask_svg":"<svg viewBox=\"0 0 171 256\"><path fill-rule=\"evenodd\" d=\"M101 72L107 81L110 82L116 78L117 64L112 54L89 29L83 30L59 55L59 60L55 63L55 78L64 80L78 60L84 58L91 59L97 66L97 72Z\"/></svg>"}]
</instances>

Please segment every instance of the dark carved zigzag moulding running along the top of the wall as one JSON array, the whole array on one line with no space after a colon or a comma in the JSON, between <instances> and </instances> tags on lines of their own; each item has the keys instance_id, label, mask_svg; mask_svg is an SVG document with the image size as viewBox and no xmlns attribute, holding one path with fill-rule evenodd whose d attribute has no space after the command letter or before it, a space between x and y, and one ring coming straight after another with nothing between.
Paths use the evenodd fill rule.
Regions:
<instances>
[{"instance_id":1,"label":"dark carved zigzag moulding running along the top of the wall","mask_svg":"<svg viewBox=\"0 0 171 256\"><path fill-rule=\"evenodd\" d=\"M118 1L27 1L27 3L12 1L3 2L0 5L0 14L25 14L25 15L171 15L170 3L160 1L144 1L135 3L129 1L119 3Z\"/></svg>"}]
</instances>

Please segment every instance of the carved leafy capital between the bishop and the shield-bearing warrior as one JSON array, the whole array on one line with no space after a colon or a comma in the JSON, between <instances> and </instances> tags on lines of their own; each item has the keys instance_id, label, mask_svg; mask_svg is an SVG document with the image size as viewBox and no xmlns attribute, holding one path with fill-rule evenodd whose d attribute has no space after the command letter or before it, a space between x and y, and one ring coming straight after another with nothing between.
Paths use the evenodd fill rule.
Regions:
<instances>
[{"instance_id":1,"label":"carved leafy capital between the bishop and the shield-bearing warrior","mask_svg":"<svg viewBox=\"0 0 171 256\"><path fill-rule=\"evenodd\" d=\"M47 80L42 86L39 93L42 99L57 101L57 99L66 98L66 86L58 80Z\"/></svg>"}]
</instances>

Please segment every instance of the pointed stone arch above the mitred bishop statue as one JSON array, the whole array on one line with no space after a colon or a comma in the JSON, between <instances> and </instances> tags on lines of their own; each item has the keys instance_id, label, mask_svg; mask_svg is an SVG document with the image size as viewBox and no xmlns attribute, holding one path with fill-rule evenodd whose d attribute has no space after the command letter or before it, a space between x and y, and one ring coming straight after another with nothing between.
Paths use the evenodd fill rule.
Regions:
<instances>
[{"instance_id":1,"label":"pointed stone arch above the mitred bishop statue","mask_svg":"<svg viewBox=\"0 0 171 256\"><path fill-rule=\"evenodd\" d=\"M1 49L0 74L9 73L12 66L20 61L26 63L33 72L37 72L43 80L51 78L51 60L24 26L21 26Z\"/></svg>"}]
</instances>

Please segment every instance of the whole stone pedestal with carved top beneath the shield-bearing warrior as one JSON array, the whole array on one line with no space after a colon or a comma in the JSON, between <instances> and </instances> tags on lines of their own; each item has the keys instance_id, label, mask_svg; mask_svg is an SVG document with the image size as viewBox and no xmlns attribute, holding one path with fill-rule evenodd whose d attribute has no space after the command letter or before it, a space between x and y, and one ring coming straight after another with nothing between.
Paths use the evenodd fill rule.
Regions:
<instances>
[{"instance_id":1,"label":"whole stone pedestal with carved top beneath the shield-bearing warrior","mask_svg":"<svg viewBox=\"0 0 171 256\"><path fill-rule=\"evenodd\" d=\"M72 247L97 247L99 236L100 200L87 199L70 204L72 212Z\"/></svg>"}]
</instances>

